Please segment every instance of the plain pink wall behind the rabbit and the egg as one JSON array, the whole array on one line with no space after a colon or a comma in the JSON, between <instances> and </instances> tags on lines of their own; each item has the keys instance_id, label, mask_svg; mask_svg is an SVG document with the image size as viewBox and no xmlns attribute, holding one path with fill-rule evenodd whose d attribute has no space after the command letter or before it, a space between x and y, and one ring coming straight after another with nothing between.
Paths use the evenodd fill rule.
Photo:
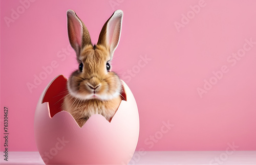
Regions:
<instances>
[{"instance_id":1,"label":"plain pink wall behind the rabbit and the egg","mask_svg":"<svg viewBox=\"0 0 256 165\"><path fill-rule=\"evenodd\" d=\"M112 67L138 104L137 150L225 150L232 143L236 150L256 150L256 1L38 0L25 6L1 1L1 150L4 106L9 151L37 151L33 121L40 93L57 75L69 77L78 68L68 9L83 20L93 43L112 13L124 12ZM17 10L19 16L12 14ZM237 52L243 57L232 56ZM34 75L44 80L30 91ZM198 88L206 93L200 96Z\"/></svg>"}]
</instances>

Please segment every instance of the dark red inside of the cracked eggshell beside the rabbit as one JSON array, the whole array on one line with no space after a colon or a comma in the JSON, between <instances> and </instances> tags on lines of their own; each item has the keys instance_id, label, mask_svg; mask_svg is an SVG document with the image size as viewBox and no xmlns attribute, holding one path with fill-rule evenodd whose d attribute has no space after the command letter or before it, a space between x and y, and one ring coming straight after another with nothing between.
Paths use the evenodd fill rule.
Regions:
<instances>
[{"instance_id":1,"label":"dark red inside of the cracked eggshell beside the rabbit","mask_svg":"<svg viewBox=\"0 0 256 165\"><path fill-rule=\"evenodd\" d=\"M121 98L126 101L126 93L122 85ZM63 75L56 77L51 84L48 86L42 103L49 102L50 117L52 118L56 113L62 111L61 104L64 97L67 95L67 78Z\"/></svg>"}]
</instances>

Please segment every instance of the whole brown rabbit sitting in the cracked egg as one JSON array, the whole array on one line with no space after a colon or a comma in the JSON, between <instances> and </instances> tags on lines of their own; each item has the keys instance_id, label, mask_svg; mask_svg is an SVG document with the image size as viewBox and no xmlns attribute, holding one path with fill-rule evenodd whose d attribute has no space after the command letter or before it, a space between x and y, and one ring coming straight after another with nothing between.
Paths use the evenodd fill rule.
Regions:
<instances>
[{"instance_id":1,"label":"whole brown rabbit sitting in the cracked egg","mask_svg":"<svg viewBox=\"0 0 256 165\"><path fill-rule=\"evenodd\" d=\"M68 92L61 108L79 127L93 114L101 114L110 122L121 103L122 83L111 71L111 60L120 40L122 18L122 10L115 11L93 45L81 19L73 10L67 11L68 36L78 67L67 81Z\"/></svg>"}]
</instances>

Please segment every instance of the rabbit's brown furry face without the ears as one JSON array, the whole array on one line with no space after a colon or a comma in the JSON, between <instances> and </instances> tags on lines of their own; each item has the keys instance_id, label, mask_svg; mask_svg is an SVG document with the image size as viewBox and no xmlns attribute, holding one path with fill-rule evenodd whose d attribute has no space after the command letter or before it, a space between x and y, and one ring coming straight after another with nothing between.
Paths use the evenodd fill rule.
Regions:
<instances>
[{"instance_id":1,"label":"rabbit's brown furry face without the ears","mask_svg":"<svg viewBox=\"0 0 256 165\"><path fill-rule=\"evenodd\" d=\"M111 72L110 53L102 45L89 45L78 58L78 69L69 78L68 90L82 99L111 100L120 95L121 81Z\"/></svg>"}]
</instances>

